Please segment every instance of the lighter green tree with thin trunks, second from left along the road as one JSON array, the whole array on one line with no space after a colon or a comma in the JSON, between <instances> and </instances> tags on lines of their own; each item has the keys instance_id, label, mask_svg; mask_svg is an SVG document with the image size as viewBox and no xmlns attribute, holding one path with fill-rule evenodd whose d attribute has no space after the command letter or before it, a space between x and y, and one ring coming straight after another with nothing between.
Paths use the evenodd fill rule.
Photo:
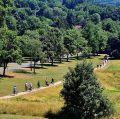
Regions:
<instances>
[{"instance_id":1,"label":"lighter green tree with thin trunks, second from left along the road","mask_svg":"<svg viewBox=\"0 0 120 119\"><path fill-rule=\"evenodd\" d=\"M42 54L42 44L39 40L39 33L37 31L27 30L22 36L24 44L24 53L31 57L31 66L32 61L34 61L34 73L35 73L35 63L40 60L40 55ZM32 67L31 67L32 71Z\"/></svg>"}]
</instances>

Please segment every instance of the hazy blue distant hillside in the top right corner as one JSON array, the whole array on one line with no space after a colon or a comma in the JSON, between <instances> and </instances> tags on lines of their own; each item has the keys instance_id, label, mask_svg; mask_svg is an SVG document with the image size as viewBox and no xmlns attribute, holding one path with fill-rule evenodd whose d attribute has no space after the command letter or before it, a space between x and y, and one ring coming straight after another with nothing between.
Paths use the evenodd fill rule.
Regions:
<instances>
[{"instance_id":1,"label":"hazy blue distant hillside in the top right corner","mask_svg":"<svg viewBox=\"0 0 120 119\"><path fill-rule=\"evenodd\" d=\"M89 0L100 4L120 6L120 0Z\"/></svg>"}]
</instances>

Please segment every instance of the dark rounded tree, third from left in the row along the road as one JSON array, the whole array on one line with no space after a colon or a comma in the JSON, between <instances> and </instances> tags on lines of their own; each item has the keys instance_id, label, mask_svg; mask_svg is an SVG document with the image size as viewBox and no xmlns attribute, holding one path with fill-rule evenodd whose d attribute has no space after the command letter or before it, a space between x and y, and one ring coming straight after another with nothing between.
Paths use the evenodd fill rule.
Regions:
<instances>
[{"instance_id":1,"label":"dark rounded tree, third from left in the row along the road","mask_svg":"<svg viewBox=\"0 0 120 119\"><path fill-rule=\"evenodd\" d=\"M44 39L41 40L43 43L43 51L46 52L47 58L52 60L53 65L55 58L60 58L64 55L62 32L58 28L52 28L47 32Z\"/></svg>"}]
</instances>

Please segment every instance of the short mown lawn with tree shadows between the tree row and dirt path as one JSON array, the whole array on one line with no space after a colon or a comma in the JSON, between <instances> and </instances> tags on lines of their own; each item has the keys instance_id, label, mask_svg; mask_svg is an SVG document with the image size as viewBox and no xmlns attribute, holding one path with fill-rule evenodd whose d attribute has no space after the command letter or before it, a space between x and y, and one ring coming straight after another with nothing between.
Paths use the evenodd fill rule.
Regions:
<instances>
[{"instance_id":1,"label":"short mown lawn with tree shadows between the tree row and dirt path","mask_svg":"<svg viewBox=\"0 0 120 119\"><path fill-rule=\"evenodd\" d=\"M80 57L81 58L81 57ZM103 56L96 56L87 61L93 61L94 67L102 62ZM54 66L51 63L45 63L43 68L40 65L36 65L36 74L30 71L30 68L18 69L15 71L6 71L6 76L2 77L0 82L0 97L5 95L11 95L13 93L13 87L16 85L18 92L24 91L24 85L26 82L33 83L33 88L37 88L37 81L40 80L41 86L45 85L45 79L47 78L51 83L52 77L55 82L63 80L63 76L68 71L68 67L75 67L77 63L81 63L83 60L76 60L76 57L69 58L69 62L66 59L62 59L62 63L59 61L54 62ZM0 72L2 75L2 72Z\"/></svg>"}]
</instances>

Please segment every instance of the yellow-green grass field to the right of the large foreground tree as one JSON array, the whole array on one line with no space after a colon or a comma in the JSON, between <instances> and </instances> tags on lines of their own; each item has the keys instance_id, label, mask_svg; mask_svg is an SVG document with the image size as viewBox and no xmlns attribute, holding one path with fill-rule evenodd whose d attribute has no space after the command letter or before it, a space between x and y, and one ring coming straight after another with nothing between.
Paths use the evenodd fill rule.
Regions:
<instances>
[{"instance_id":1,"label":"yellow-green grass field to the right of the large foreground tree","mask_svg":"<svg viewBox=\"0 0 120 119\"><path fill-rule=\"evenodd\" d=\"M120 60L111 60L109 63L111 65L107 69L96 70L95 74L106 89L104 93L115 104L116 113L109 119L120 119Z\"/></svg>"}]
</instances>

